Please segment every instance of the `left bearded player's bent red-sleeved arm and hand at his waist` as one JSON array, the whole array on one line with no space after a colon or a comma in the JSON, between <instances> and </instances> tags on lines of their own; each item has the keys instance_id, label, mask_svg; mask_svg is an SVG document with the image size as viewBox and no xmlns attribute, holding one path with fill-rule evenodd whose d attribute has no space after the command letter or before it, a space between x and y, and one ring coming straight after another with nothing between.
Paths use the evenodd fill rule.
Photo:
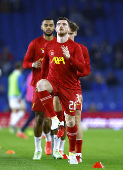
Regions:
<instances>
[{"instance_id":1,"label":"left bearded player's bent red-sleeved arm and hand at his waist","mask_svg":"<svg viewBox=\"0 0 123 170\"><path fill-rule=\"evenodd\" d=\"M29 46L28 46L28 50L27 53L24 57L23 60L23 68L28 69L28 68L41 68L41 59L37 60L37 61L33 61L33 57L35 55L35 49L34 49L34 41L32 41Z\"/></svg>"}]
</instances>

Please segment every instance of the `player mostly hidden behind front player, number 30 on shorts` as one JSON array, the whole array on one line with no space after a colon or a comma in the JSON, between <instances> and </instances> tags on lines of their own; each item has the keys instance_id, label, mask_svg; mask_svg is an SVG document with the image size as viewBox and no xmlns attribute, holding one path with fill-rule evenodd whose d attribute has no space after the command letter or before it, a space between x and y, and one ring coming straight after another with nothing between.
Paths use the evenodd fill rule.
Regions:
<instances>
[{"instance_id":1,"label":"player mostly hidden behind front player, number 30 on shorts","mask_svg":"<svg viewBox=\"0 0 123 170\"><path fill-rule=\"evenodd\" d=\"M77 30L79 27L73 23L70 22L70 31L69 31L69 38L74 41L75 36L77 35ZM83 73L78 72L78 87L76 89L76 116L75 116L75 122L77 125L77 138L76 138L76 157L78 162L82 162L82 142L83 142L83 133L82 133L82 127L81 127L81 111L82 111L82 89L80 84L80 77L84 77L90 74L91 68L90 68L90 58L87 48L84 45L81 45L81 49L83 52L84 60L85 60L85 70Z\"/></svg>"}]
</instances>

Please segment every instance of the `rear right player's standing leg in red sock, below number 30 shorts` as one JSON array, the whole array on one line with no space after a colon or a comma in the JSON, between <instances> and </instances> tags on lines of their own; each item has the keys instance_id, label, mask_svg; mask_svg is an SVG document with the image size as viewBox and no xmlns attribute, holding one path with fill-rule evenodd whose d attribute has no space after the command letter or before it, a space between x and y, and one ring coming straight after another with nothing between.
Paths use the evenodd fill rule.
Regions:
<instances>
[{"instance_id":1,"label":"rear right player's standing leg in red sock, below number 30 shorts","mask_svg":"<svg viewBox=\"0 0 123 170\"><path fill-rule=\"evenodd\" d=\"M76 156L78 162L82 162L83 132L81 127L81 110L76 110L75 122L77 125Z\"/></svg>"}]
</instances>

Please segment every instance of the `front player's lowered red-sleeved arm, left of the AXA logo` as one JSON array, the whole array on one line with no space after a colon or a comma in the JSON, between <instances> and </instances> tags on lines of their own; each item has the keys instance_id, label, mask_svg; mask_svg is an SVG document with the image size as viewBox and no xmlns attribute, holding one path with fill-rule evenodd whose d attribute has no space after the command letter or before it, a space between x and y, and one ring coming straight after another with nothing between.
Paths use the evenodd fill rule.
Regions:
<instances>
[{"instance_id":1,"label":"front player's lowered red-sleeved arm, left of the AXA logo","mask_svg":"<svg viewBox=\"0 0 123 170\"><path fill-rule=\"evenodd\" d=\"M45 46L45 52L41 68L41 79L46 79L49 71L49 55Z\"/></svg>"}]
</instances>

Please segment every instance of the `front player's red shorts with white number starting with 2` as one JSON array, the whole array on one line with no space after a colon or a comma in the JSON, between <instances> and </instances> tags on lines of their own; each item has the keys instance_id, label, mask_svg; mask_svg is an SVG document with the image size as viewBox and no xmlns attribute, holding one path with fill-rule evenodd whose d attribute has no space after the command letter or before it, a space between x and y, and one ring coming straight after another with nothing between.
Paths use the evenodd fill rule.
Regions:
<instances>
[{"instance_id":1,"label":"front player's red shorts with white number starting with 2","mask_svg":"<svg viewBox=\"0 0 123 170\"><path fill-rule=\"evenodd\" d=\"M68 89L55 81L48 79L53 87L54 96L58 96L62 110L65 111L66 114L71 116L75 116L76 114L76 91L73 89Z\"/></svg>"}]
</instances>

